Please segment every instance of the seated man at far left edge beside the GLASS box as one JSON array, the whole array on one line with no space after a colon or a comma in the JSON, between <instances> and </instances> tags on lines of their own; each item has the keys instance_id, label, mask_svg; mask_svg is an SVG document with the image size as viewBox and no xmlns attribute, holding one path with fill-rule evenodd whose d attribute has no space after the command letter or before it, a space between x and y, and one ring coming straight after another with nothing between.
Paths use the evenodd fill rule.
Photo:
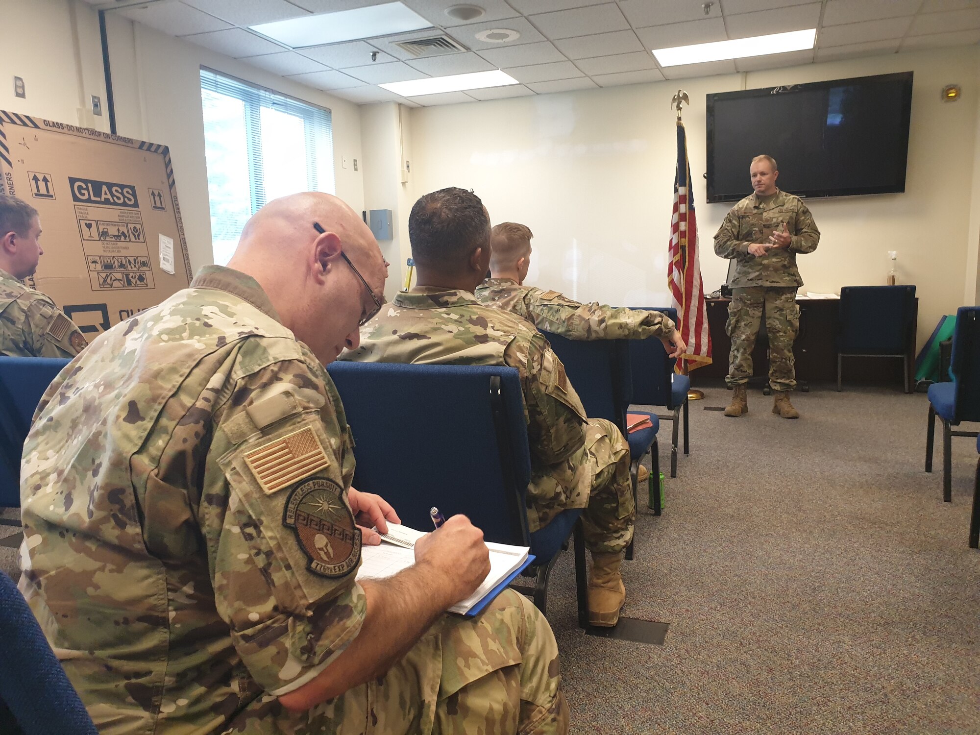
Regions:
<instances>
[{"instance_id":1,"label":"seated man at far left edge beside the GLASS box","mask_svg":"<svg viewBox=\"0 0 980 735\"><path fill-rule=\"evenodd\" d=\"M87 344L55 303L21 280L44 251L37 210L0 194L0 357L73 358Z\"/></svg>"}]
</instances>

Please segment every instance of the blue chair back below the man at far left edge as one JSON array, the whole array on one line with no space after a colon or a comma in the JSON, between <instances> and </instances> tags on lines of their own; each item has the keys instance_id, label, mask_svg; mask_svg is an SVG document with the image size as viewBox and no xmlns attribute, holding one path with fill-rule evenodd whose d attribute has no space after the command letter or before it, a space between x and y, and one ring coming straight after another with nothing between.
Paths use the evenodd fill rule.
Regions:
<instances>
[{"instance_id":1,"label":"blue chair back below the man at far left edge","mask_svg":"<svg viewBox=\"0 0 980 735\"><path fill-rule=\"evenodd\" d=\"M21 507L21 454L37 404L68 365L55 358L0 357L0 507Z\"/></svg>"}]
</instances>

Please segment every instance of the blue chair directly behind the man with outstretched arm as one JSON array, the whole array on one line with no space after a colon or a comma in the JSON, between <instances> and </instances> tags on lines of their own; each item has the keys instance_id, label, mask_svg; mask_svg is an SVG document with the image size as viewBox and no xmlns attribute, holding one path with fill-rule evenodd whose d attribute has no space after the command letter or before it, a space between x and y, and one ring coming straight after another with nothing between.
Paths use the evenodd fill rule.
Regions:
<instances>
[{"instance_id":1,"label":"blue chair directly behind the man with outstretched arm","mask_svg":"<svg viewBox=\"0 0 980 735\"><path fill-rule=\"evenodd\" d=\"M633 501L639 507L636 473L640 461L648 452L651 456L651 473L659 481L661 468L657 451L657 432L660 419L656 414L636 412L650 417L650 428L630 433L626 430L626 409L632 403L632 375L629 368L629 348L624 339L597 339L591 341L566 339L558 334L543 332L552 349L564 364L564 371L578 397L582 399L585 414L590 418L606 418L612 421L629 444L630 480L633 484ZM661 515L661 494L654 493L654 514ZM633 543L626 549L626 559L633 558Z\"/></svg>"}]
</instances>

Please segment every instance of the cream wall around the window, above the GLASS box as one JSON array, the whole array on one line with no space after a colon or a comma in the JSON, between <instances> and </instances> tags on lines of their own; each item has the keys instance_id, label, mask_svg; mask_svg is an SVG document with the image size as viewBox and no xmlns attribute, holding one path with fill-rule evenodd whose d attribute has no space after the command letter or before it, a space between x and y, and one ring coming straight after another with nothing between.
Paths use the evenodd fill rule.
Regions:
<instances>
[{"instance_id":1,"label":"cream wall around the window, above the GLASS box","mask_svg":"<svg viewBox=\"0 0 980 735\"><path fill-rule=\"evenodd\" d=\"M337 195L364 209L362 172L341 156L361 156L361 112L351 102L250 67L107 13L117 132L170 146L187 249L194 270L213 263L200 68L209 67L330 109ZM98 14L80 0L0 0L3 62L0 110L109 130ZM26 99L13 93L23 76ZM104 114L84 109L102 97ZM86 117L87 116L87 117Z\"/></svg>"}]
</instances>

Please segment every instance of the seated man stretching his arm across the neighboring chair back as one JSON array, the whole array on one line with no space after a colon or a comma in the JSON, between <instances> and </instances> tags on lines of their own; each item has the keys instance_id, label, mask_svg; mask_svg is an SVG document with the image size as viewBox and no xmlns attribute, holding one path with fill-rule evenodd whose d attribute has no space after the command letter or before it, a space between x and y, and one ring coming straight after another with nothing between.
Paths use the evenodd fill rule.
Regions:
<instances>
[{"instance_id":1,"label":"seated man stretching his arm across the neighboring chair back","mask_svg":"<svg viewBox=\"0 0 980 735\"><path fill-rule=\"evenodd\" d=\"M481 304L506 309L538 329L568 339L646 339L658 337L670 357L684 353L686 345L674 323L660 312L613 309L598 303L580 304L558 291L524 285L531 260L531 238L526 224L494 225L490 241L490 278L476 288ZM673 344L671 344L673 343Z\"/></svg>"}]
</instances>

